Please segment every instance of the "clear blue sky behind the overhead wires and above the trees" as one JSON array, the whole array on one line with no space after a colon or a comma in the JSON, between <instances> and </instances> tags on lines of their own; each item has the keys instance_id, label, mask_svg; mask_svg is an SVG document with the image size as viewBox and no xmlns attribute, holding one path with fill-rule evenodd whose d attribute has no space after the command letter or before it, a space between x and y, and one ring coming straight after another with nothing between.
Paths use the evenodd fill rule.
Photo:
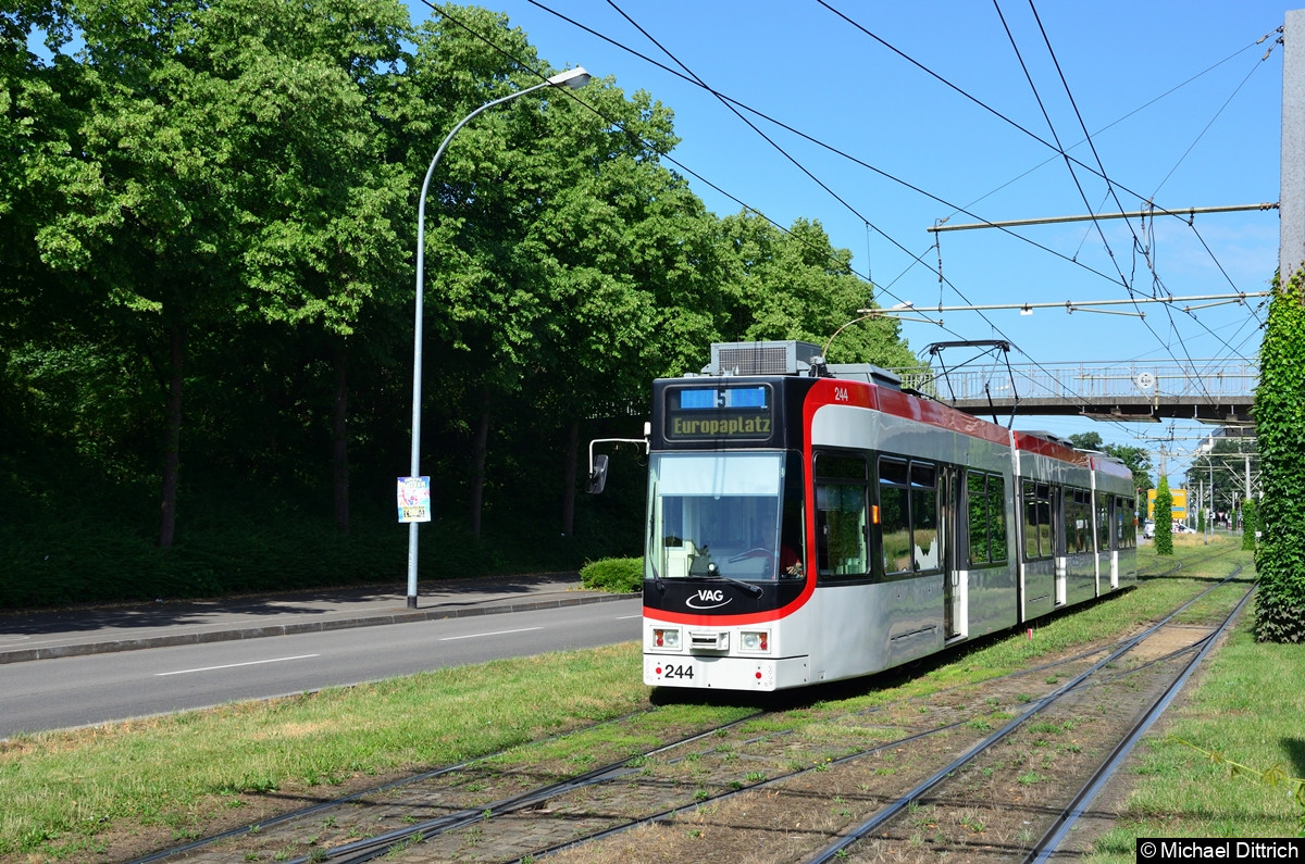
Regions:
<instances>
[{"instance_id":1,"label":"clear blue sky behind the overhead wires and above the trees","mask_svg":"<svg viewBox=\"0 0 1305 864\"><path fill-rule=\"evenodd\" d=\"M420 0L410 5L415 21L431 14ZM671 155L702 177L690 176L690 185L709 209L726 215L741 201L780 226L820 221L835 247L852 252L857 273L873 278L883 307L1117 300L1130 296L1125 286L1138 295L1255 292L1267 290L1276 268L1275 210L1198 214L1190 227L1169 218L1013 232L927 228L944 218L1138 210L1148 198L1171 210L1276 202L1283 54L1275 30L1289 8L1280 3L484 5L508 14L555 68L583 65L626 94L647 90L672 108L681 144ZM745 112L773 145L707 90L634 52L688 67L711 89L847 155ZM1071 174L1045 144L1057 137L1111 185L1079 166ZM906 322L903 334L916 351L941 341L1009 339L1018 348L1013 363L1172 365L1254 355L1265 317L1257 305L1202 309L1195 318L1142 307L1144 321L1058 309L947 312L934 316L945 328ZM947 355L949 364L962 359ZM1208 431L1052 418L1023 418L1017 427L1095 431L1107 442L1143 446L1152 444L1135 435ZM1190 442L1171 452L1185 448ZM1169 461L1172 479L1181 470L1181 459Z\"/></svg>"}]
</instances>

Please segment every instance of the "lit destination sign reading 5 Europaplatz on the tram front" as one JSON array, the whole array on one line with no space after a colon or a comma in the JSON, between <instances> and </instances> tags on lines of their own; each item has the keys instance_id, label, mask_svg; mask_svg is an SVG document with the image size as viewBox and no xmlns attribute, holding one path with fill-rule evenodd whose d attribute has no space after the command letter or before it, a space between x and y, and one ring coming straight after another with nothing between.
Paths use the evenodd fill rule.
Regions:
<instances>
[{"instance_id":1,"label":"lit destination sign reading 5 Europaplatz on the tram front","mask_svg":"<svg viewBox=\"0 0 1305 864\"><path fill-rule=\"evenodd\" d=\"M769 385L680 386L666 393L666 437L673 441L766 441L775 432Z\"/></svg>"}]
</instances>

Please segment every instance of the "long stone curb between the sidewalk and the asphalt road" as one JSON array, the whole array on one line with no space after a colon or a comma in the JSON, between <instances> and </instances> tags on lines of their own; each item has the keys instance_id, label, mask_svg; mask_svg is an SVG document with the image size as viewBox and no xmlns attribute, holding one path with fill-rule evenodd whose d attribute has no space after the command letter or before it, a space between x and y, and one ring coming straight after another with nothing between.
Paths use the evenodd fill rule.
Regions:
<instances>
[{"instance_id":1,"label":"long stone curb between the sidewalk and the asphalt road","mask_svg":"<svg viewBox=\"0 0 1305 864\"><path fill-rule=\"evenodd\" d=\"M508 612L531 612L535 609L561 608L564 606L587 606L626 600L637 594L594 594L589 596L552 598L547 600L526 600L478 608L459 609L410 609L403 612L360 615L356 617L331 619L329 621L296 621L291 624L271 624L260 626L231 628L205 633L175 633L151 636L138 640L102 640L98 642L78 642L73 645L51 645L33 649L0 649L0 664L26 663L30 660L52 660L65 656L87 656L91 654L114 654L116 651L138 651L151 647L175 645L202 645L205 642L234 642L236 640L257 640L270 636L292 636L295 633L324 633L328 630L348 630L359 626L382 626L386 624L416 624L438 621L441 619L478 617L484 615L505 615Z\"/></svg>"}]
</instances>

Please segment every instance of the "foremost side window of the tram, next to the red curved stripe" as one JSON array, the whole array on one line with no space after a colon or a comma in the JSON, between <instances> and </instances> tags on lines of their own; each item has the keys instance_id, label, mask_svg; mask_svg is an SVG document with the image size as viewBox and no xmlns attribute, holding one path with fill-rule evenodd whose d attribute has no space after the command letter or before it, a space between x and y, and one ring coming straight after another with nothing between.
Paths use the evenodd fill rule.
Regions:
<instances>
[{"instance_id":1,"label":"foremost side window of the tram, next to the red curved stripe","mask_svg":"<svg viewBox=\"0 0 1305 864\"><path fill-rule=\"evenodd\" d=\"M869 572L867 547L865 459L816 455L816 566L825 578L853 578Z\"/></svg>"}]
</instances>

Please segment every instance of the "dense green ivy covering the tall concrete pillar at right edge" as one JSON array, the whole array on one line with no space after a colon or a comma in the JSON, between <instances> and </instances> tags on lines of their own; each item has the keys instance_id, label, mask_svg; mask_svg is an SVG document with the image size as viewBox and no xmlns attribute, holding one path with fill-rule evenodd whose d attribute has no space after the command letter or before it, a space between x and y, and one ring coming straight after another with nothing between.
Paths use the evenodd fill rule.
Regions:
<instances>
[{"instance_id":1,"label":"dense green ivy covering the tall concrete pillar at right edge","mask_svg":"<svg viewBox=\"0 0 1305 864\"><path fill-rule=\"evenodd\" d=\"M1263 496L1255 549L1255 638L1305 640L1305 270L1274 295L1259 348L1255 439Z\"/></svg>"}]
</instances>

